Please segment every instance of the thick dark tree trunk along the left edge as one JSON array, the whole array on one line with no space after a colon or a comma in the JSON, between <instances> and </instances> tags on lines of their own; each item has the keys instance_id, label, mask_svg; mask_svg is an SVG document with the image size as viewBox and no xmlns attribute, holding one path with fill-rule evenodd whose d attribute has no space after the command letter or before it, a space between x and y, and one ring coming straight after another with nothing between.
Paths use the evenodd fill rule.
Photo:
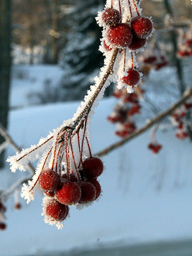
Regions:
<instances>
[{"instance_id":1,"label":"thick dark tree trunk along the left edge","mask_svg":"<svg viewBox=\"0 0 192 256\"><path fill-rule=\"evenodd\" d=\"M8 99L11 73L11 0L0 1L0 122L8 124ZM0 136L0 144L4 138ZM0 168L4 165L4 154L0 155Z\"/></svg>"}]
</instances>

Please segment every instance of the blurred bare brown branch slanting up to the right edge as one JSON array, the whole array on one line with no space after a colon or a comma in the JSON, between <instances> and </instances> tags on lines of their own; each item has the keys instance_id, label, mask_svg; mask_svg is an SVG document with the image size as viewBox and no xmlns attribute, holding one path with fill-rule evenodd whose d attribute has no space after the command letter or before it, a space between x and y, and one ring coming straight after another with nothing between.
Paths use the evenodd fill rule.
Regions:
<instances>
[{"instance_id":1,"label":"blurred bare brown branch slanting up to the right edge","mask_svg":"<svg viewBox=\"0 0 192 256\"><path fill-rule=\"evenodd\" d=\"M100 151L96 155L98 155L98 157L100 157L102 155L106 155L106 154L110 153L111 151L115 150L116 148L121 147L126 142L128 142L128 141L132 140L133 138L137 137L138 135L142 134L143 132L147 131L147 129L152 127L152 125L157 124L158 122L162 121L162 119L164 119L166 116L170 115L175 109L178 108L178 106L180 106L184 102L186 102L187 99L189 99L191 96L192 96L192 89L188 89L186 92L184 92L183 97L179 101L174 103L173 106L168 108L166 111L160 113L159 115L155 116L155 118L152 118L151 120L149 120L146 125L144 125L140 129L138 129L137 131L133 132L131 135L129 135L122 141L119 141L119 142L116 142L116 143L110 145L109 147Z\"/></svg>"}]
</instances>

